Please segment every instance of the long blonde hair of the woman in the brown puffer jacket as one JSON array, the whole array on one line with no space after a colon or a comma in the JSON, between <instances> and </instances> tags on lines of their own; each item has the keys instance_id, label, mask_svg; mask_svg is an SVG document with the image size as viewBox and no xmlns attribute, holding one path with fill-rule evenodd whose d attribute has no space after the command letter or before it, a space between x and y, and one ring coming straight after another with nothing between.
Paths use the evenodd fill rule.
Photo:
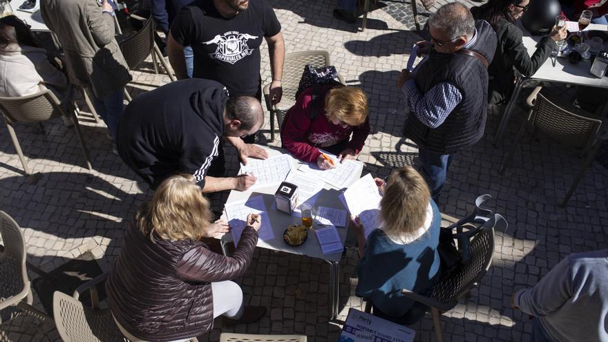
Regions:
<instances>
[{"instance_id":1,"label":"long blonde hair of the woman in the brown puffer jacket","mask_svg":"<svg viewBox=\"0 0 608 342\"><path fill-rule=\"evenodd\" d=\"M135 214L137 227L152 241L200 240L213 218L194 176L172 175Z\"/></svg>"}]
</instances>

